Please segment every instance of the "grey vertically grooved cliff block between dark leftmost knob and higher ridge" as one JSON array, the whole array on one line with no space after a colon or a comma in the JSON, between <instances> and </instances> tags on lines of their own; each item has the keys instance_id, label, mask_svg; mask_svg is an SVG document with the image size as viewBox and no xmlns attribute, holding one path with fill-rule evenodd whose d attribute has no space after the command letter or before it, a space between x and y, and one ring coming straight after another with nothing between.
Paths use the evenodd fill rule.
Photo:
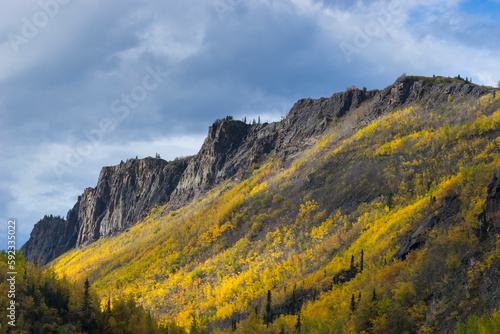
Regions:
<instances>
[{"instance_id":1,"label":"grey vertically grooved cliff block between dark leftmost knob and higher ridge","mask_svg":"<svg viewBox=\"0 0 500 334\"><path fill-rule=\"evenodd\" d=\"M68 222L79 226L76 247L123 231L154 206L167 203L186 161L132 159L104 167L95 188L88 188L68 213Z\"/></svg>"}]
</instances>

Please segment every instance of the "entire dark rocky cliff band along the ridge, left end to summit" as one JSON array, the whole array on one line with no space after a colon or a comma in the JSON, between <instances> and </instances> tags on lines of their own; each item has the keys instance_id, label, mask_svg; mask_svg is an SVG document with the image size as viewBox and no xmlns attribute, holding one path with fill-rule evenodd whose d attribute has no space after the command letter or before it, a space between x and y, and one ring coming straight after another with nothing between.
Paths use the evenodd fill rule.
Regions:
<instances>
[{"instance_id":1,"label":"entire dark rocky cliff band along the ridge, left end to summit","mask_svg":"<svg viewBox=\"0 0 500 334\"><path fill-rule=\"evenodd\" d=\"M435 84L402 77L381 91L349 89L330 98L302 99L280 122L254 125L234 120L216 122L194 157L175 162L133 159L103 168L97 186L84 191L66 221L55 226L47 223L35 226L23 246L24 254L28 260L41 258L46 263L68 249L84 247L127 229L158 204L168 203L169 209L177 209L228 178L239 181L252 164L266 157L284 163L292 161L314 145L332 122L357 108L365 107L368 118L374 119L399 106L420 103L437 107L450 96L477 98L488 92L484 87L465 82Z\"/></svg>"}]
</instances>

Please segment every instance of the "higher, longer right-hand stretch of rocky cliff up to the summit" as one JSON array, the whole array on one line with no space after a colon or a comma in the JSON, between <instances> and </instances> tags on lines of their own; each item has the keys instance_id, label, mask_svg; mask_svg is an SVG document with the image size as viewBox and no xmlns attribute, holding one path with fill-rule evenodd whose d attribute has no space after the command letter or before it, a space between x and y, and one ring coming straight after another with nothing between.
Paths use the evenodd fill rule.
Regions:
<instances>
[{"instance_id":1,"label":"higher, longer right-hand stretch of rocky cliff up to the summit","mask_svg":"<svg viewBox=\"0 0 500 334\"><path fill-rule=\"evenodd\" d=\"M241 179L265 156L286 162L314 145L335 119L365 105L374 119L394 108L421 103L434 108L451 96L478 98L488 93L465 82L433 84L401 77L379 91L349 89L330 98L302 99L281 122L247 125L239 121L213 124L199 153L190 161L169 203L178 209L230 177Z\"/></svg>"}]
</instances>

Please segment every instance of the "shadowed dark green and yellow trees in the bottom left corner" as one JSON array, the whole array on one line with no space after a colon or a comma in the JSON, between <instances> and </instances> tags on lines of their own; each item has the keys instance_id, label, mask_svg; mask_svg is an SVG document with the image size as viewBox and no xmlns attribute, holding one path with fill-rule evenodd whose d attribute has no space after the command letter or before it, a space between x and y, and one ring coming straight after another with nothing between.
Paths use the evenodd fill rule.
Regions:
<instances>
[{"instance_id":1,"label":"shadowed dark green and yellow trees in the bottom left corner","mask_svg":"<svg viewBox=\"0 0 500 334\"><path fill-rule=\"evenodd\" d=\"M7 254L0 252L0 306L10 305L8 299ZM0 320L0 333L185 333L175 323L159 325L144 307L131 296L101 301L88 280L82 284L58 279L52 269L44 270L26 263L22 254L16 256L15 327Z\"/></svg>"}]
</instances>

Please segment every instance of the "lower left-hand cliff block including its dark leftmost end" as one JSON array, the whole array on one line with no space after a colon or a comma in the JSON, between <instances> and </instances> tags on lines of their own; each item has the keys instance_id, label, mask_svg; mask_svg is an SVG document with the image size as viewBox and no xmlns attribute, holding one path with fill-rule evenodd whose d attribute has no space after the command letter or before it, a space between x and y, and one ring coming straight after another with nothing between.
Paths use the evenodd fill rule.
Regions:
<instances>
[{"instance_id":1,"label":"lower left-hand cliff block including its dark leftmost end","mask_svg":"<svg viewBox=\"0 0 500 334\"><path fill-rule=\"evenodd\" d=\"M23 246L24 255L45 264L133 226L153 207L170 200L188 160L132 159L104 167L97 186L85 189L66 220L42 219L35 225Z\"/></svg>"}]
</instances>

